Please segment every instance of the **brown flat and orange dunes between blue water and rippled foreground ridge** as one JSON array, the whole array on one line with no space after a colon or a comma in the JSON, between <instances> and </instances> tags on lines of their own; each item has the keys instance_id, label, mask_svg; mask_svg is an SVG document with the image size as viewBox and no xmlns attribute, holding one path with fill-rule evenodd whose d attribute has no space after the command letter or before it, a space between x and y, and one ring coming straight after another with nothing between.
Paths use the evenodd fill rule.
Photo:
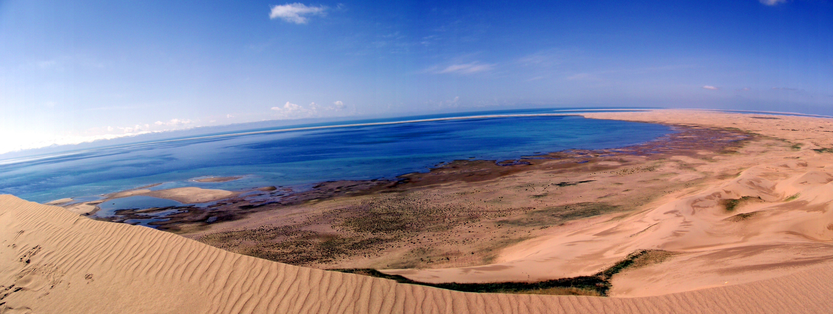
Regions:
<instances>
[{"instance_id":1,"label":"brown flat and orange dunes between blue water and rippled foreground ridge","mask_svg":"<svg viewBox=\"0 0 833 314\"><path fill-rule=\"evenodd\" d=\"M609 272L600 277L609 288L602 294L629 298L833 266L833 120L587 115L680 132L632 147L448 162L396 182L275 187L255 202L239 196L182 208L154 225L227 252L310 267L302 269L377 272L436 287Z\"/></svg>"}]
</instances>

